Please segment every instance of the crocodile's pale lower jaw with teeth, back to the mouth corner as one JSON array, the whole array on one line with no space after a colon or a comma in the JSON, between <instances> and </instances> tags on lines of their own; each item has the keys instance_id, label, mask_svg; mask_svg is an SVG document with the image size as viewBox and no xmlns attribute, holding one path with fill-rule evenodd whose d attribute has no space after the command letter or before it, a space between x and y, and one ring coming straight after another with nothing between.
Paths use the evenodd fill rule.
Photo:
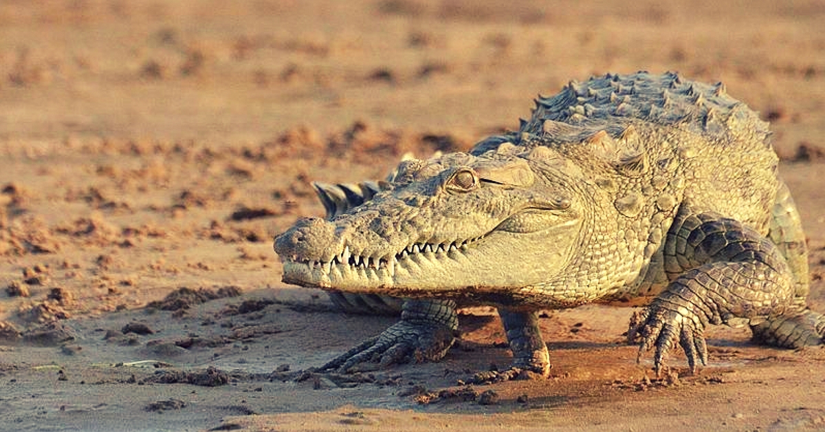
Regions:
<instances>
[{"instance_id":1,"label":"crocodile's pale lower jaw with teeth, back to the mouth corner","mask_svg":"<svg viewBox=\"0 0 825 432\"><path fill-rule=\"evenodd\" d=\"M556 216L530 207L499 222L482 235L441 243L417 242L397 252L375 254L343 241L340 252L311 258L281 247L282 281L303 287L346 292L409 293L422 289L447 292L455 287L526 286L543 280L552 268L510 262L501 244L514 254L540 249L545 244L568 244L578 221L559 222ZM478 231L477 231L478 232ZM549 240L554 239L554 240ZM332 237L327 241L334 241ZM277 241L276 241L277 243ZM490 247L497 244L497 247ZM278 251L276 244L276 251ZM565 259L566 246L550 251L547 259ZM530 252L532 253L532 252ZM552 257L552 258L550 258ZM551 266L552 267L552 266ZM507 268L505 271L504 268ZM412 295L411 295L412 296Z\"/></svg>"}]
</instances>

